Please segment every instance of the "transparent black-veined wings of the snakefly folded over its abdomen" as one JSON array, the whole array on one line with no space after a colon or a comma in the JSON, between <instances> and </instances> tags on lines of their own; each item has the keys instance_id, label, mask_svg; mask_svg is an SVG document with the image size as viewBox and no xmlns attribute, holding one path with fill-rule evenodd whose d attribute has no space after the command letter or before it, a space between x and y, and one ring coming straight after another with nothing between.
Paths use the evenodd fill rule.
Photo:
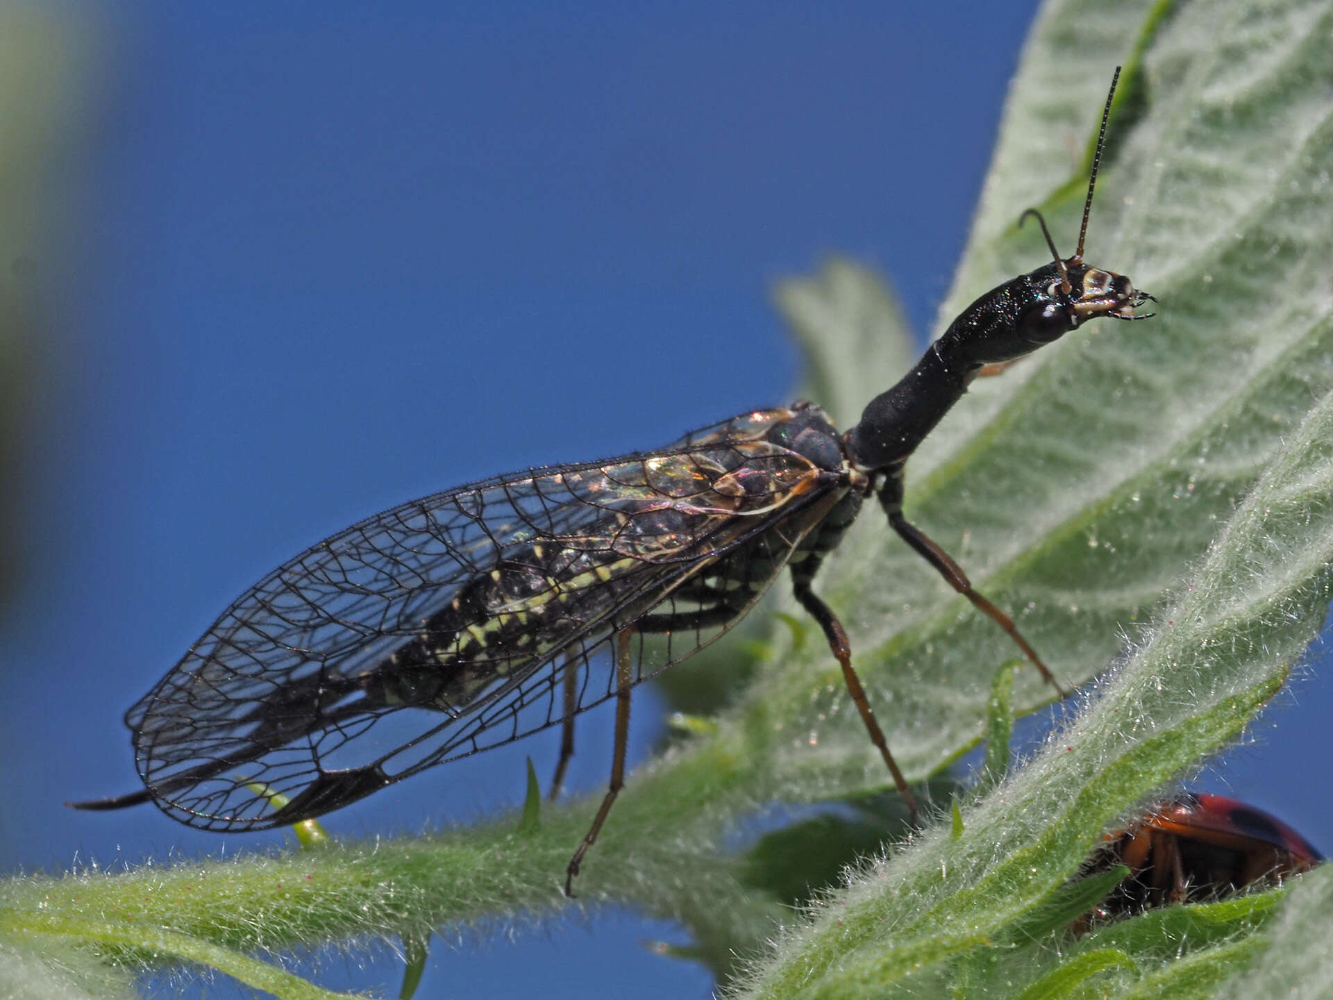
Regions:
<instances>
[{"instance_id":1,"label":"transparent black-veined wings of the snakefly folded over its abdomen","mask_svg":"<svg viewBox=\"0 0 1333 1000\"><path fill-rule=\"evenodd\" d=\"M761 411L676 447L475 483L307 549L228 608L131 711L171 816L256 829L316 816L613 691L738 619L836 500Z\"/></svg>"}]
</instances>

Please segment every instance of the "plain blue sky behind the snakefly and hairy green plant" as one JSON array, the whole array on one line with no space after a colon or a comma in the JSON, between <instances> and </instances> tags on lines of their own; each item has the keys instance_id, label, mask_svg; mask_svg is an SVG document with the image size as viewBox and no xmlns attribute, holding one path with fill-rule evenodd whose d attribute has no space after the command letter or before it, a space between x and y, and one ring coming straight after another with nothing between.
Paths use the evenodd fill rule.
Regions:
<instances>
[{"instance_id":1,"label":"plain blue sky behind the snakefly and hairy green plant","mask_svg":"<svg viewBox=\"0 0 1333 1000\"><path fill-rule=\"evenodd\" d=\"M934 317L1028 3L139 4L99 12L83 225L35 375L23 587L0 607L0 871L196 856L121 713L240 591L353 520L529 464L664 444L786 401L772 283L841 251ZM1090 68L1102 72L1109 65ZM1094 109L1089 109L1092 115ZM1306 681L1201 788L1333 848ZM1292 707L1294 705L1294 708ZM655 712L636 705L644 755ZM585 724L572 785L605 780ZM329 817L420 829L516 803L523 757L437 769ZM1224 777L1225 783L1224 784ZM706 996L627 912L435 945L419 996ZM337 959L335 988L397 989Z\"/></svg>"}]
</instances>

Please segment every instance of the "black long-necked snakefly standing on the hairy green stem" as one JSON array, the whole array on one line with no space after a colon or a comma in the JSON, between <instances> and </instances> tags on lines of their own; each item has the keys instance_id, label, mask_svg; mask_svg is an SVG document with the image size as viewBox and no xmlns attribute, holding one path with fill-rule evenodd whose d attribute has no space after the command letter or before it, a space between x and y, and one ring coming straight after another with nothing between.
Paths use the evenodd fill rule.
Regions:
<instances>
[{"instance_id":1,"label":"black long-necked snakefly standing on the hairy green stem","mask_svg":"<svg viewBox=\"0 0 1333 1000\"><path fill-rule=\"evenodd\" d=\"M355 524L221 613L125 715L145 787L79 808L152 800L192 827L264 829L555 725L559 788L575 716L615 699L611 784L569 861L573 895L623 784L635 685L736 624L789 567L914 819L846 633L812 583L873 495L1060 691L1010 617L902 516L902 468L984 367L1098 316L1152 315L1134 313L1152 296L1082 259L1114 87L1074 255L1062 259L1025 212L1052 261L968 307L850 431L812 403L760 409L659 451L487 479Z\"/></svg>"}]
</instances>

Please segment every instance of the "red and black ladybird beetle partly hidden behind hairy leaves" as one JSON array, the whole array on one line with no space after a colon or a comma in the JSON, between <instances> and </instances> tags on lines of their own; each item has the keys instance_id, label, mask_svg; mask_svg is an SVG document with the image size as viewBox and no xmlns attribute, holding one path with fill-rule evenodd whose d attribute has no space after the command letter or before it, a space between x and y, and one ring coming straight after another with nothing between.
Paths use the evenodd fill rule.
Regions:
<instances>
[{"instance_id":1,"label":"red and black ladybird beetle partly hidden behind hairy leaves","mask_svg":"<svg viewBox=\"0 0 1333 1000\"><path fill-rule=\"evenodd\" d=\"M1185 792L1153 805L1137 823L1108 833L1089 872L1129 868L1089 919L1148 907L1200 903L1306 872L1324 860L1274 816L1221 795Z\"/></svg>"}]
</instances>

